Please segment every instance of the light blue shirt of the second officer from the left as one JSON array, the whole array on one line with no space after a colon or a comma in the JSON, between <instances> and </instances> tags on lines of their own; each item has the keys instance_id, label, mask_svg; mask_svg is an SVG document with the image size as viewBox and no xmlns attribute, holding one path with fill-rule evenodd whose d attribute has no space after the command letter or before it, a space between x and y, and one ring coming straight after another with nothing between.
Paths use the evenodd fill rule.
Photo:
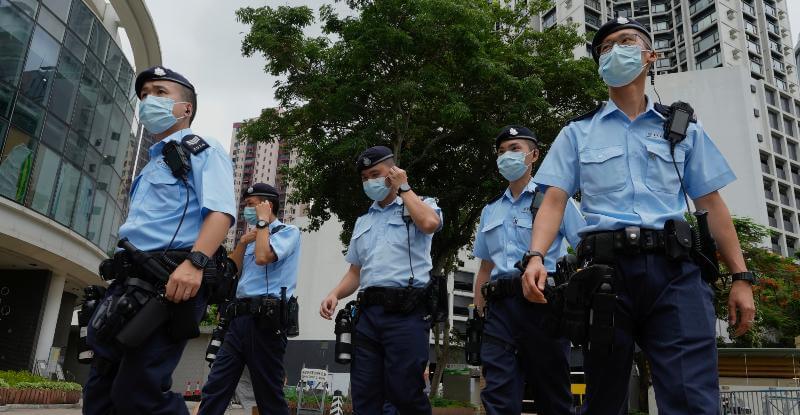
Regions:
<instances>
[{"instance_id":1,"label":"light blue shirt of the second officer from the left","mask_svg":"<svg viewBox=\"0 0 800 415\"><path fill-rule=\"evenodd\" d=\"M242 276L236 288L236 298L274 295L280 297L281 287L286 287L286 298L294 295L297 287L297 264L300 258L300 229L284 225L279 220L269 224L269 244L278 259L267 265L256 264L256 242L247 244L242 261ZM263 231L262 231L263 232Z\"/></svg>"}]
</instances>

